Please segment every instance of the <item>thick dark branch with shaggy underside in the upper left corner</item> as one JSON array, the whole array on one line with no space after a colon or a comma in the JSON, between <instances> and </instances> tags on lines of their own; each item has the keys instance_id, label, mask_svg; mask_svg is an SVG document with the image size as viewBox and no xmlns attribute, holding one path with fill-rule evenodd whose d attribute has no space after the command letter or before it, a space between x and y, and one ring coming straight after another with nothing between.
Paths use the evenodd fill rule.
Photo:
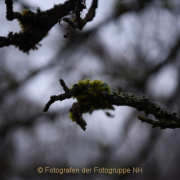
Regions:
<instances>
[{"instance_id":1,"label":"thick dark branch with shaggy underside in the upper left corner","mask_svg":"<svg viewBox=\"0 0 180 180\"><path fill-rule=\"evenodd\" d=\"M0 37L0 47L14 45L25 53L38 49L37 45L48 34L48 31L59 22L59 19L67 20L66 16L71 12L75 13L76 21L69 20L67 23L71 26L75 24L74 29L76 27L82 29L85 25L80 18L81 11L86 8L83 0L68 0L64 4L55 5L46 11L37 8L36 12L26 9L22 13L13 11L13 0L5 0L5 4L7 20L17 19L21 31L18 33L11 31L7 37Z\"/></svg>"}]
</instances>

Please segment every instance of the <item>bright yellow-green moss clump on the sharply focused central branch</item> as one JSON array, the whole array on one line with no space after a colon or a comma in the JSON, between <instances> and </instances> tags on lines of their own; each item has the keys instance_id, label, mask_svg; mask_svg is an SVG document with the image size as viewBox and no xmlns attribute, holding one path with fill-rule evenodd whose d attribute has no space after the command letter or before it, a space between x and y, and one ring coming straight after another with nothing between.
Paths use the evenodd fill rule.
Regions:
<instances>
[{"instance_id":1,"label":"bright yellow-green moss clump on the sharply focused central branch","mask_svg":"<svg viewBox=\"0 0 180 180\"><path fill-rule=\"evenodd\" d=\"M101 80L80 80L79 95L74 96L81 107L82 113L98 109L111 109L112 106L106 96L111 94L110 87Z\"/></svg>"}]
</instances>

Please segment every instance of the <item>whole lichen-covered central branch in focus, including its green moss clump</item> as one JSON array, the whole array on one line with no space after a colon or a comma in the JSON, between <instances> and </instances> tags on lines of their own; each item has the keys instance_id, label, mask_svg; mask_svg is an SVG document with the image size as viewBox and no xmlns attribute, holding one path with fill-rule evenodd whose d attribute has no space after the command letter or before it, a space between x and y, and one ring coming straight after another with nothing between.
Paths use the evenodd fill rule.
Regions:
<instances>
[{"instance_id":1,"label":"whole lichen-covered central branch in focus, including its green moss clump","mask_svg":"<svg viewBox=\"0 0 180 180\"><path fill-rule=\"evenodd\" d=\"M148 119L143 116L138 116L142 122L152 124L153 127L165 128L180 128L180 118L175 112L166 110L161 106L150 102L147 97L138 97L134 94L112 91L110 86L101 80L80 80L71 88L68 88L65 82L60 79L60 84L65 93L58 96L51 96L50 100L44 107L44 112L47 112L51 104L55 101L63 101L69 98L76 98L69 111L69 117L73 122L76 122L84 131L86 129L86 121L82 114L92 112L99 109L114 109L116 106L130 106L138 111L144 111L146 116L154 115L157 120Z\"/></svg>"}]
</instances>

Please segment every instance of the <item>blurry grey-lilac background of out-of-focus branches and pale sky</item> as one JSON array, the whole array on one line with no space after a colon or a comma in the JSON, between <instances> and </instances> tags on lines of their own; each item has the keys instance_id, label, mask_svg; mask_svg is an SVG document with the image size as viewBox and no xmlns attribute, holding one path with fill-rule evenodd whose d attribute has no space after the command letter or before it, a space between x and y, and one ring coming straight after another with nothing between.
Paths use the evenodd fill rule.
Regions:
<instances>
[{"instance_id":1,"label":"blurry grey-lilac background of out-of-focus branches and pale sky","mask_svg":"<svg viewBox=\"0 0 180 180\"><path fill-rule=\"evenodd\" d=\"M14 0L14 10L52 8L65 0ZM87 9L91 0L86 0ZM82 16L87 13L84 10ZM19 32L6 20L0 1L0 36ZM178 0L99 0L96 17L82 31L54 26L29 55L14 46L0 49L0 179L180 178L179 129L152 128L130 107L85 114L84 132L68 117L74 99L56 102L80 79L100 79L113 90L144 95L180 115L180 2ZM143 173L39 174L38 167L142 167Z\"/></svg>"}]
</instances>

